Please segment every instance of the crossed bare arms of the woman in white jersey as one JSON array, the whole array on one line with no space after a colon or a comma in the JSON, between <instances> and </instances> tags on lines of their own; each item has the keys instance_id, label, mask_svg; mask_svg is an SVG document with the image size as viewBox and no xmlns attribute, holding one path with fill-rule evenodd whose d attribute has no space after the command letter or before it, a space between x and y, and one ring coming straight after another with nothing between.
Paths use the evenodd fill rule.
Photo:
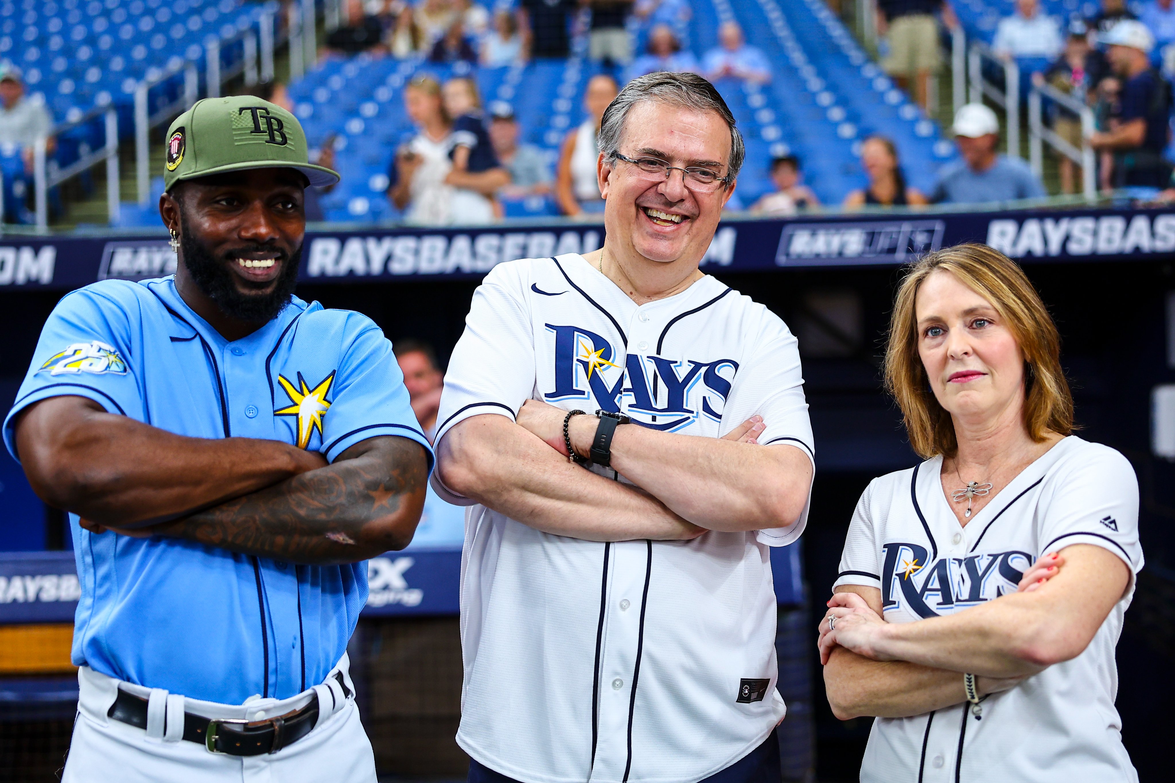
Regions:
<instances>
[{"instance_id":1,"label":"crossed bare arms of the woman in white jersey","mask_svg":"<svg viewBox=\"0 0 1175 783\"><path fill-rule=\"evenodd\" d=\"M981 694L1012 688L1080 655L1129 579L1116 555L1079 544L1041 558L1016 593L908 623L881 619L879 589L846 586L820 621L828 703L841 720L908 717L965 701L964 673Z\"/></svg>"}]
</instances>

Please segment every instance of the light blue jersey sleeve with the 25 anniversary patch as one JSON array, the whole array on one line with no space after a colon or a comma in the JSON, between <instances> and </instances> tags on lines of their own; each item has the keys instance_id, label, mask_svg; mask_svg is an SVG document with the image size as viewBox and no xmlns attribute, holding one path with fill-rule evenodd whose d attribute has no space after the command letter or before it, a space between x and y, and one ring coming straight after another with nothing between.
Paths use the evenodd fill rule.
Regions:
<instances>
[{"instance_id":1,"label":"light blue jersey sleeve with the 25 anniversary patch","mask_svg":"<svg viewBox=\"0 0 1175 783\"><path fill-rule=\"evenodd\" d=\"M112 296L116 291L101 290L103 285L112 284L66 295L45 322L28 373L4 423L5 446L13 458L20 459L13 428L16 416L49 397L86 397L109 413L143 420L134 366L141 340L127 312L137 302L122 302Z\"/></svg>"}]
</instances>

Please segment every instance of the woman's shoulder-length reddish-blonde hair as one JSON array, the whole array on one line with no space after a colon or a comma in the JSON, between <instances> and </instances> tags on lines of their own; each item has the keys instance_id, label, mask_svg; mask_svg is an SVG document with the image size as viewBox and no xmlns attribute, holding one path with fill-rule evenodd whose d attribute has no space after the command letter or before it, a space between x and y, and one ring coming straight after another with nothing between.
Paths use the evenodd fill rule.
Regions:
<instances>
[{"instance_id":1,"label":"woman's shoulder-length reddish-blonde hair","mask_svg":"<svg viewBox=\"0 0 1175 783\"><path fill-rule=\"evenodd\" d=\"M901 407L909 445L924 459L953 457L959 448L951 414L939 405L918 353L918 290L934 271L954 275L1005 318L1025 357L1023 424L1040 443L1048 432L1073 432L1073 396L1061 370L1056 324L1023 270L985 244L935 250L911 265L898 289L885 355L885 386Z\"/></svg>"}]
</instances>

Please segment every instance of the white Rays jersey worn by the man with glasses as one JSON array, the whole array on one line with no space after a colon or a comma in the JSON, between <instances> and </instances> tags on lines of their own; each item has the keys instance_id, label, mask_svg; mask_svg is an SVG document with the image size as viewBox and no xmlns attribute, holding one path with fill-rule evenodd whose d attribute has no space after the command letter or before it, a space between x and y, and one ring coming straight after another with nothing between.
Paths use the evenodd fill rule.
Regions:
<instances>
[{"instance_id":1,"label":"white Rays jersey worn by the man with glasses","mask_svg":"<svg viewBox=\"0 0 1175 783\"><path fill-rule=\"evenodd\" d=\"M758 413L759 443L812 454L795 338L713 277L637 306L579 255L515 261L486 275L465 323L437 443L539 399L710 438ZM767 546L795 540L806 517L600 544L472 506L458 744L524 783L691 783L737 762L784 717Z\"/></svg>"}]
</instances>

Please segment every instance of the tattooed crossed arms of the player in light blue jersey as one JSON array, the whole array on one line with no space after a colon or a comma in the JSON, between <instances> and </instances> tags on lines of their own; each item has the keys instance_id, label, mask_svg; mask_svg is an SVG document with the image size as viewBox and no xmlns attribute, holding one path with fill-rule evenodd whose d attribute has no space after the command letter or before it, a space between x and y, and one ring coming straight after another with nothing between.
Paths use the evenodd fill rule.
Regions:
<instances>
[{"instance_id":1,"label":"tattooed crossed arms of the player in light blue jersey","mask_svg":"<svg viewBox=\"0 0 1175 783\"><path fill-rule=\"evenodd\" d=\"M83 397L29 406L16 446L36 494L95 533L180 538L300 563L403 548L428 479L424 448L405 438L363 440L328 465L276 440L176 436Z\"/></svg>"}]
</instances>

